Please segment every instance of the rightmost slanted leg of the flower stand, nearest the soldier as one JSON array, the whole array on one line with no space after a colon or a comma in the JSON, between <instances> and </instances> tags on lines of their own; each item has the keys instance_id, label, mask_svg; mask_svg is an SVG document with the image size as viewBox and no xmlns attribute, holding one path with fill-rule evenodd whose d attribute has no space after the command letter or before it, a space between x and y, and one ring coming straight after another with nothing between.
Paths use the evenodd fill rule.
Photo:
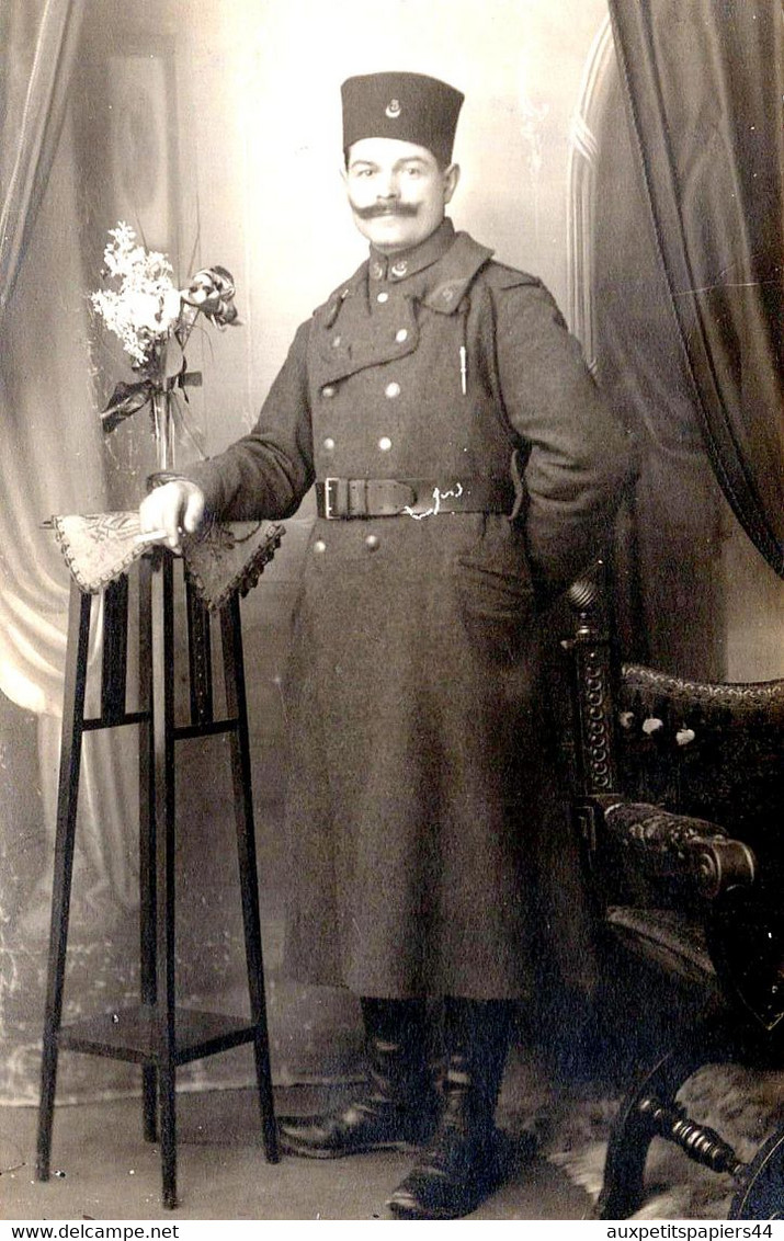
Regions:
<instances>
[{"instance_id":1,"label":"rightmost slanted leg of the flower stand, nearest the soldier","mask_svg":"<svg viewBox=\"0 0 784 1241\"><path fill-rule=\"evenodd\" d=\"M278 1163L278 1131L269 1064L269 1033L264 999L264 963L262 957L262 930L258 903L258 872L256 862L256 829L251 797L251 742L244 688L244 660L239 598L232 597L221 612L221 638L223 645L223 671L226 700L229 715L237 720L231 735L232 782L234 791L234 817L237 823L237 851L239 856L239 885L244 923L251 1019L256 1028L253 1051L262 1116L264 1154L269 1163Z\"/></svg>"}]
</instances>

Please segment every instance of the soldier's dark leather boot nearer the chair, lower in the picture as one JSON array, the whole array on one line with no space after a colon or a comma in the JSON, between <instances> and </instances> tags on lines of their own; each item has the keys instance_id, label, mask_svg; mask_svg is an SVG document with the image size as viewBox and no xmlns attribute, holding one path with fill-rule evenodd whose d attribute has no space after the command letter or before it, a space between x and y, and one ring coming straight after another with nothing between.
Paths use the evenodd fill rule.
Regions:
<instances>
[{"instance_id":1,"label":"soldier's dark leather boot nearer the chair, lower in the picture","mask_svg":"<svg viewBox=\"0 0 784 1241\"><path fill-rule=\"evenodd\" d=\"M387 1206L409 1220L455 1220L501 1183L495 1131L511 1028L505 1000L448 999L444 1109L418 1163Z\"/></svg>"}]
</instances>

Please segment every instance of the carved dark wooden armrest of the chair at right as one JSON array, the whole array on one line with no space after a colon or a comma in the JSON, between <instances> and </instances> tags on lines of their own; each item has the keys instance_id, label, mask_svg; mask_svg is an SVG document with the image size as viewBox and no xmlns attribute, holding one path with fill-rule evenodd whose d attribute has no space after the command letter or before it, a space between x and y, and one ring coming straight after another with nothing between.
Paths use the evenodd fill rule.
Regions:
<instances>
[{"instance_id":1,"label":"carved dark wooden armrest of the chair at right","mask_svg":"<svg viewBox=\"0 0 784 1241\"><path fill-rule=\"evenodd\" d=\"M751 887L757 879L753 850L733 840L718 824L645 802L613 797L593 800L600 809L608 841L629 850L651 879L687 881L708 900L731 889Z\"/></svg>"}]
</instances>

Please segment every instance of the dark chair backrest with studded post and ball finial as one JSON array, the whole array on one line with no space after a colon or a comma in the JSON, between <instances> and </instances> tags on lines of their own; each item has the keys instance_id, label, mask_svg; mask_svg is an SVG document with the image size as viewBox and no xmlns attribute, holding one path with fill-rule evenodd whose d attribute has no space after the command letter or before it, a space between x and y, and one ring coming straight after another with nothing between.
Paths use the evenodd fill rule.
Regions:
<instances>
[{"instance_id":1,"label":"dark chair backrest with studded post and ball finial","mask_svg":"<svg viewBox=\"0 0 784 1241\"><path fill-rule=\"evenodd\" d=\"M674 865L671 874L662 867L657 882L629 851L635 833L657 830L654 809L707 820L708 834L751 846L763 887L780 884L784 680L706 684L621 665L603 587L602 566L572 587L576 624L564 643L572 665L574 803L598 906L681 901L679 874L688 881L684 867ZM607 831L613 814L604 810L614 802L646 807L646 828L635 828L626 807L625 836L619 831L613 840ZM690 830L687 822L664 827L675 862L677 834Z\"/></svg>"}]
</instances>

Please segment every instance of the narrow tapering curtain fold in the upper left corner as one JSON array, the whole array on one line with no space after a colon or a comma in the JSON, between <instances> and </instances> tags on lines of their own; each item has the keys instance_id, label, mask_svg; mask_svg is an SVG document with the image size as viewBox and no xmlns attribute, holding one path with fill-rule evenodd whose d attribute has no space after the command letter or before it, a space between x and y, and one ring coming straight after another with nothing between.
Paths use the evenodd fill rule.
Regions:
<instances>
[{"instance_id":1,"label":"narrow tapering curtain fold in the upper left corner","mask_svg":"<svg viewBox=\"0 0 784 1241\"><path fill-rule=\"evenodd\" d=\"M0 315L16 287L62 130L86 0L0 7Z\"/></svg>"}]
</instances>

